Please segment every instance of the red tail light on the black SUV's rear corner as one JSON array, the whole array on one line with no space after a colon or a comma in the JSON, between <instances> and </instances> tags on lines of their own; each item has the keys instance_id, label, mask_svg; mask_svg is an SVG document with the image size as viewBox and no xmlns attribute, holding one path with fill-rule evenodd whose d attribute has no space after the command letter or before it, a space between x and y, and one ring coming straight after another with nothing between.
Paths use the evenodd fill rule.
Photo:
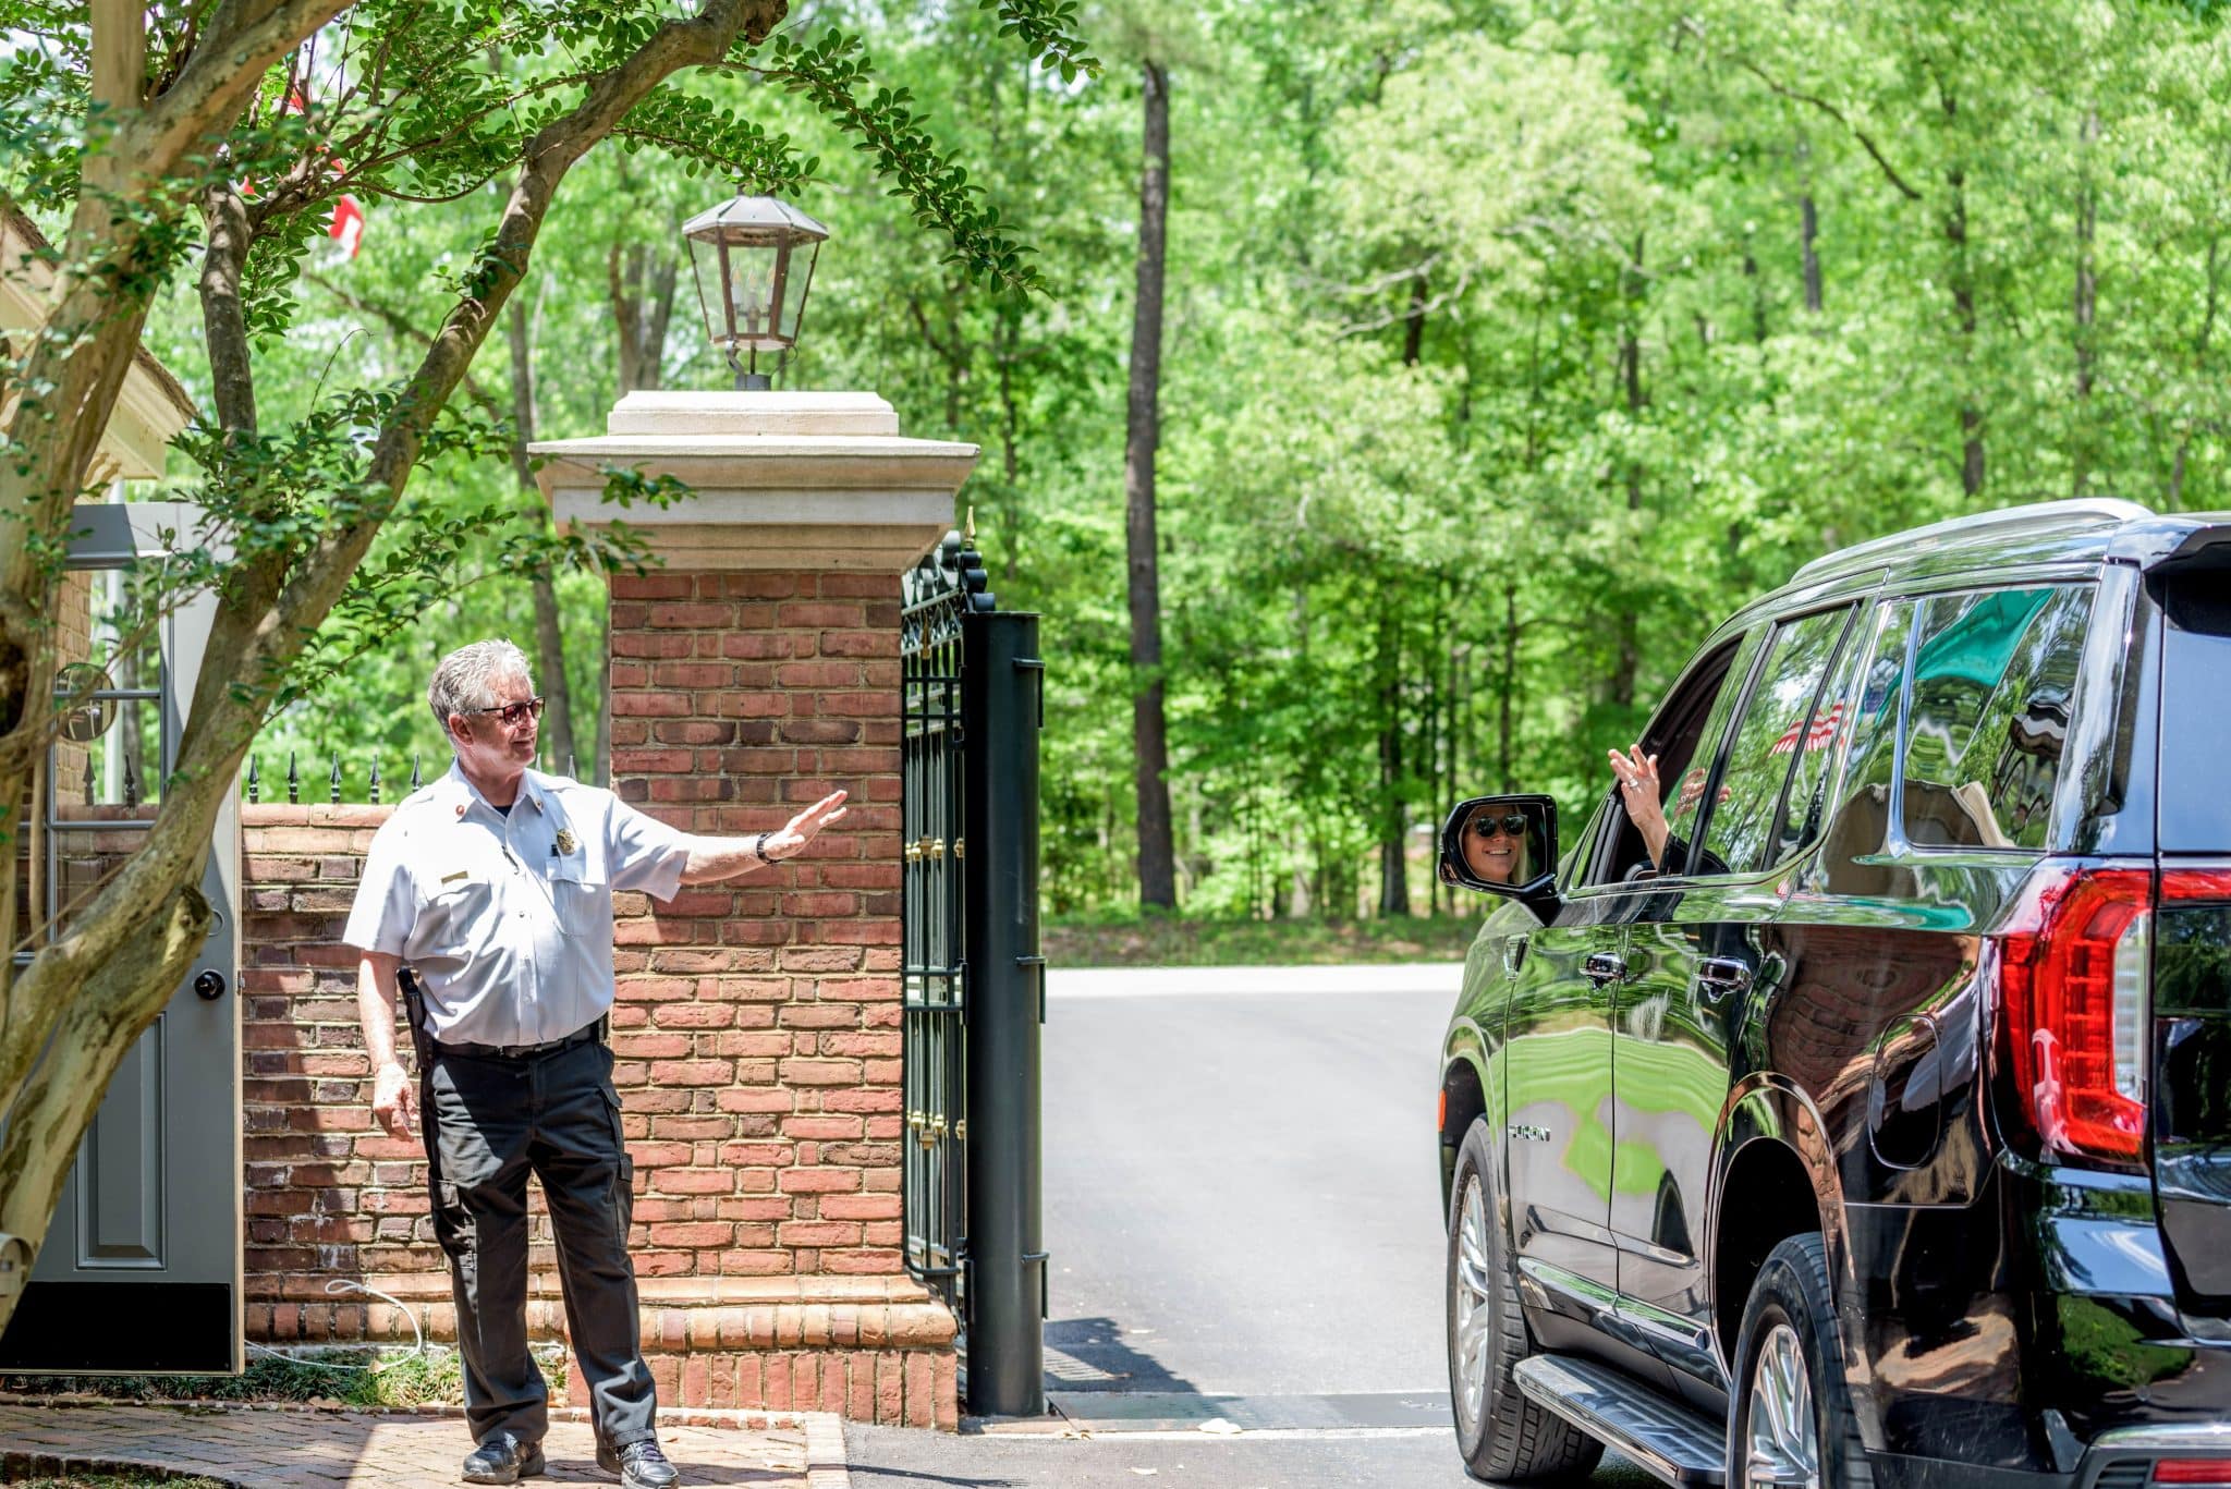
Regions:
<instances>
[{"instance_id":1,"label":"red tail light on the black SUV's rear corner","mask_svg":"<svg viewBox=\"0 0 2231 1489\"><path fill-rule=\"evenodd\" d=\"M2059 1154L2135 1168L2146 1143L2153 871L2041 868L1992 938L1999 1056Z\"/></svg>"}]
</instances>

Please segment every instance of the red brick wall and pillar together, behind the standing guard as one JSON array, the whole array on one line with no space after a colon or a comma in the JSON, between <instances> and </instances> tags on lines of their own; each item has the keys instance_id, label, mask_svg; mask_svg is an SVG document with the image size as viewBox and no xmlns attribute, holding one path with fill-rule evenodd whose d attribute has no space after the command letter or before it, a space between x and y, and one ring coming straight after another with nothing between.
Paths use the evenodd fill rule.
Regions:
<instances>
[{"instance_id":1,"label":"red brick wall and pillar together, behind the standing guard","mask_svg":"<svg viewBox=\"0 0 2231 1489\"><path fill-rule=\"evenodd\" d=\"M696 833L828 790L814 848L674 902L618 895L614 1080L660 1400L950 1426L953 1317L906 1277L899 1009L899 585L854 574L616 578L614 779ZM455 1337L417 1143L379 1134L339 933L382 806L245 808L250 1335ZM562 1337L531 1201L531 1328ZM578 1389L578 1382L576 1382Z\"/></svg>"}]
</instances>

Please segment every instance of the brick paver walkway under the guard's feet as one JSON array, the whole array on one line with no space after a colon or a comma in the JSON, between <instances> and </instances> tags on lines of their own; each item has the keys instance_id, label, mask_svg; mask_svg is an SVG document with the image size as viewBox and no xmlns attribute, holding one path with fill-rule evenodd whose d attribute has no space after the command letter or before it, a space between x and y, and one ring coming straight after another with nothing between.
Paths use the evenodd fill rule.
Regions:
<instances>
[{"instance_id":1,"label":"brick paver walkway under the guard's feet","mask_svg":"<svg viewBox=\"0 0 2231 1489\"><path fill-rule=\"evenodd\" d=\"M846 1489L834 1418L801 1415L772 1429L660 1424L658 1442L685 1487ZM433 1489L460 1482L457 1462L469 1449L455 1415L0 1404L0 1480L134 1464L241 1489ZM540 1482L614 1482L596 1467L587 1422L553 1422L542 1453L549 1478Z\"/></svg>"}]
</instances>

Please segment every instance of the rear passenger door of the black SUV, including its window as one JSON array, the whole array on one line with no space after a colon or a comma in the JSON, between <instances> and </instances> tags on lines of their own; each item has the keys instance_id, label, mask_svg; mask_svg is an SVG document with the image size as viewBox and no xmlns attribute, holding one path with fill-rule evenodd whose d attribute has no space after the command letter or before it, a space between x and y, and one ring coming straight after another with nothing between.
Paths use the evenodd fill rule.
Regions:
<instances>
[{"instance_id":1,"label":"rear passenger door of the black SUV, including its window","mask_svg":"<svg viewBox=\"0 0 2231 1489\"><path fill-rule=\"evenodd\" d=\"M1789 855L1780 810L1794 768L1818 779L1832 755L1843 703L1825 683L1849 618L1841 605L1774 627L1729 710L1727 748L1702 790L1678 797L1671 826L1687 853L1626 931L1613 1007L1620 1310L1653 1355L1704 1382L1718 1377L1704 1221L1720 1107L1745 1007L1771 991L1765 929Z\"/></svg>"}]
</instances>

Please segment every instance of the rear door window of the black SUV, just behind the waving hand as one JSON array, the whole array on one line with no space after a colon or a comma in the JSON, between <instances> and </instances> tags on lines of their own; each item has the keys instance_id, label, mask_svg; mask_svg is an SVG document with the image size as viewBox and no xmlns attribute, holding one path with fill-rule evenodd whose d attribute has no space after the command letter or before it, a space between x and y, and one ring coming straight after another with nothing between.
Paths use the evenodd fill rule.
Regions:
<instances>
[{"instance_id":1,"label":"rear door window of the black SUV, just behind the waving hand","mask_svg":"<svg viewBox=\"0 0 2231 1489\"><path fill-rule=\"evenodd\" d=\"M1791 766L1807 750L1825 752L1836 739L1829 719L1820 721L1825 732L1814 739L1814 703L1849 621L1852 609L1838 607L1774 627L1767 661L1727 746L1720 788L1711 792L1713 806L1704 822L1704 851L1689 859L1691 875L1756 873L1771 866L1774 808Z\"/></svg>"}]
</instances>

